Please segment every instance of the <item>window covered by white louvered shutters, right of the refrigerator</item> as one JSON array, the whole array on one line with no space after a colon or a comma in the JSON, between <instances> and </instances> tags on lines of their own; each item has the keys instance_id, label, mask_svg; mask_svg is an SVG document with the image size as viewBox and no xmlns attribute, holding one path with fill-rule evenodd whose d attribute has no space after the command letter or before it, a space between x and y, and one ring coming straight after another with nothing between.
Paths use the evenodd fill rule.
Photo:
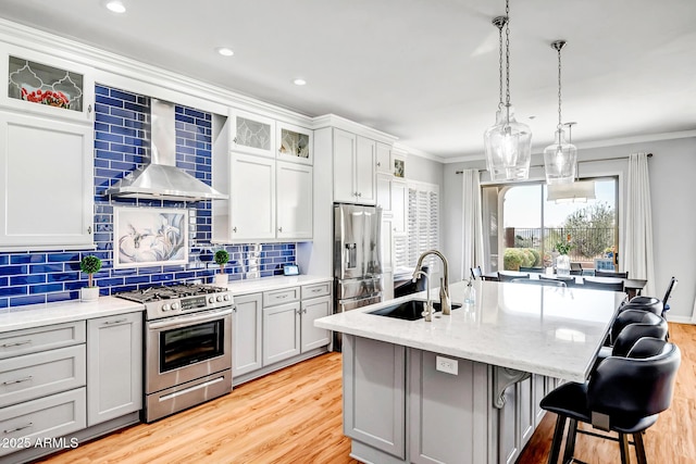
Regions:
<instances>
[{"instance_id":1,"label":"window covered by white louvered shutters, right of the refrigerator","mask_svg":"<svg viewBox=\"0 0 696 464\"><path fill-rule=\"evenodd\" d=\"M419 256L439 248L439 189L436 185L409 183L406 233L394 237L396 267L415 267ZM428 258L431 271L436 261Z\"/></svg>"}]
</instances>

